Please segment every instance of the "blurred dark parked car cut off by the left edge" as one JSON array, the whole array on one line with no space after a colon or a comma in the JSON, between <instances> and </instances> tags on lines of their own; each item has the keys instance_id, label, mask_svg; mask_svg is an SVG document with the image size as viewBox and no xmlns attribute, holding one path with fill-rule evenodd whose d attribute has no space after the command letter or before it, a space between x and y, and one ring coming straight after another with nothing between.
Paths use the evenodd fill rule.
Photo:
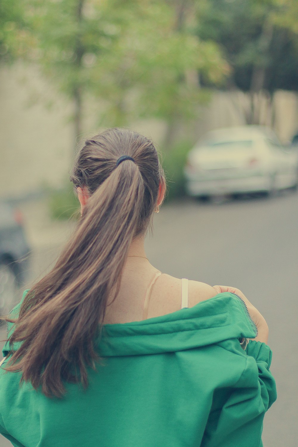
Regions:
<instances>
[{"instance_id":1,"label":"blurred dark parked car cut off by the left edge","mask_svg":"<svg viewBox=\"0 0 298 447\"><path fill-rule=\"evenodd\" d=\"M29 269L29 245L21 212L0 201L0 314L20 300L19 288Z\"/></svg>"}]
</instances>

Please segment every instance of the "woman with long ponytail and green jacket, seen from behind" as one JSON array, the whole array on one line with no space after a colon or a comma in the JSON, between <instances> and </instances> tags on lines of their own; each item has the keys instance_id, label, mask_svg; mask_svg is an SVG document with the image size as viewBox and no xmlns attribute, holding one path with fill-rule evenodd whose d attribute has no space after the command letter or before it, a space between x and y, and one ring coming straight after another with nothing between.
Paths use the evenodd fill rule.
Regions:
<instances>
[{"instance_id":1,"label":"woman with long ponytail and green jacket, seen from behind","mask_svg":"<svg viewBox=\"0 0 298 447\"><path fill-rule=\"evenodd\" d=\"M71 181L78 227L7 318L1 433L19 447L262 445L276 399L268 327L240 291L148 261L165 194L151 140L96 135Z\"/></svg>"}]
</instances>

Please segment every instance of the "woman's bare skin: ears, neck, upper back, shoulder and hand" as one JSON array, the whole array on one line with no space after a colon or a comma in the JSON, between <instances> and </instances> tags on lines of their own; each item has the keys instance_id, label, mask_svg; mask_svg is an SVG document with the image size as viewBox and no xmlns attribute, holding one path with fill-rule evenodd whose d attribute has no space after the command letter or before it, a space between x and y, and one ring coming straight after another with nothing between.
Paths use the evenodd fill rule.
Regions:
<instances>
[{"instance_id":1,"label":"woman's bare skin: ears, neck, upper back, shoulder and hand","mask_svg":"<svg viewBox=\"0 0 298 447\"><path fill-rule=\"evenodd\" d=\"M88 192L85 188L77 188L81 212L88 202ZM164 190L159 189L157 205L164 199ZM104 324L129 323L143 320L143 304L147 288L158 271L146 259L144 236L133 238L126 265L122 273L121 286L116 299L108 300ZM179 257L178 257L179 258ZM157 278L151 290L147 318L163 316L181 309L181 279L164 274ZM212 298L218 293L231 292L241 296L246 303L248 312L258 328L256 341L267 343L268 325L260 312L250 303L245 295L235 287L214 286L189 281L188 307L191 308L201 301Z\"/></svg>"}]
</instances>

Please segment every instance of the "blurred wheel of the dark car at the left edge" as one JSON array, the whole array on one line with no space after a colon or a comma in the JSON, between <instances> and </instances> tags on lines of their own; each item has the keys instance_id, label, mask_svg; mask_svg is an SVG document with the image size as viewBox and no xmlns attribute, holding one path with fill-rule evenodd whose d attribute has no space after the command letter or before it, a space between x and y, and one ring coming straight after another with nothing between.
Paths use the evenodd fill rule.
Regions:
<instances>
[{"instance_id":1,"label":"blurred wheel of the dark car at the left edge","mask_svg":"<svg viewBox=\"0 0 298 447\"><path fill-rule=\"evenodd\" d=\"M17 272L11 262L0 261L0 314L7 315L18 302Z\"/></svg>"}]
</instances>

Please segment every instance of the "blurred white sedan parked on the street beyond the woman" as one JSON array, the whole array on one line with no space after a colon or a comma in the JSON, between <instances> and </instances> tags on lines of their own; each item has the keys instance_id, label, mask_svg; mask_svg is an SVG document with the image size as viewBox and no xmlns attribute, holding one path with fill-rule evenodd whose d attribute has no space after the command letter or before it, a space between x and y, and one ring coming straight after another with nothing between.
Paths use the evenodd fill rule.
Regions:
<instances>
[{"instance_id":1,"label":"blurred white sedan parked on the street beyond the woman","mask_svg":"<svg viewBox=\"0 0 298 447\"><path fill-rule=\"evenodd\" d=\"M185 177L195 197L297 188L298 153L266 127L218 129L189 152Z\"/></svg>"}]
</instances>

